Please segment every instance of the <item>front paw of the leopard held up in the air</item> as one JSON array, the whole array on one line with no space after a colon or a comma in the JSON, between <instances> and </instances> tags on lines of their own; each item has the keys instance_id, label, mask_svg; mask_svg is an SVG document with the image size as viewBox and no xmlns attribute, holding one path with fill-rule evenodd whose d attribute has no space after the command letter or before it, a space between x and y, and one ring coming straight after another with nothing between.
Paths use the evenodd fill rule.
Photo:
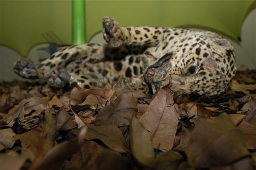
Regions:
<instances>
[{"instance_id":1,"label":"front paw of the leopard held up in the air","mask_svg":"<svg viewBox=\"0 0 256 170\"><path fill-rule=\"evenodd\" d=\"M102 19L103 22L103 38L108 45L111 47L119 47L123 44L123 36L122 28L119 23L115 20L115 18L104 17Z\"/></svg>"}]
</instances>

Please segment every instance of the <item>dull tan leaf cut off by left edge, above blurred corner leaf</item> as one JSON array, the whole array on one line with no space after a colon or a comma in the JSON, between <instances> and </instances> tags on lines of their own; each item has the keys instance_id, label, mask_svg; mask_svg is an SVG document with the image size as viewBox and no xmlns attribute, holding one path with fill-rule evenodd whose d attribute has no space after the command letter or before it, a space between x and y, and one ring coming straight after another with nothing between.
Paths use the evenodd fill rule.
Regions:
<instances>
[{"instance_id":1,"label":"dull tan leaf cut off by left edge, above blurred corner leaf","mask_svg":"<svg viewBox=\"0 0 256 170\"><path fill-rule=\"evenodd\" d=\"M0 129L0 151L4 148L12 148L15 143L14 135L15 133L12 132L11 128Z\"/></svg>"}]
</instances>

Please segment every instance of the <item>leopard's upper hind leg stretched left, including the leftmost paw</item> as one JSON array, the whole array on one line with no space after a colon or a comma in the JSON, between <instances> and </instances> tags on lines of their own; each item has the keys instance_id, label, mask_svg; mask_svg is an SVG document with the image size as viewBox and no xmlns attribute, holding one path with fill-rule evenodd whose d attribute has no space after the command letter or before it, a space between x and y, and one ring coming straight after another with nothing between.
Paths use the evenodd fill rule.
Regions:
<instances>
[{"instance_id":1,"label":"leopard's upper hind leg stretched left, including the leftmost paw","mask_svg":"<svg viewBox=\"0 0 256 170\"><path fill-rule=\"evenodd\" d=\"M38 65L26 58L22 58L14 64L14 72L22 78L45 78L46 72L52 68L56 66L65 67L78 58L84 60L84 62L102 60L106 47L107 44L82 44L62 47L52 54L50 58L47 58Z\"/></svg>"}]
</instances>

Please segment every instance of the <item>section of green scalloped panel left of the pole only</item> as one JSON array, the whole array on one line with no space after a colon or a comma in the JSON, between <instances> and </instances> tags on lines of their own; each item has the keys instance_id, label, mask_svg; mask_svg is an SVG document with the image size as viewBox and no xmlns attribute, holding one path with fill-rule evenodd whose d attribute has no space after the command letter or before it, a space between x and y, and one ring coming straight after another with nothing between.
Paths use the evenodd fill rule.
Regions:
<instances>
[{"instance_id":1,"label":"section of green scalloped panel left of the pole only","mask_svg":"<svg viewBox=\"0 0 256 170\"><path fill-rule=\"evenodd\" d=\"M0 0L0 44L26 56L50 31L70 44L71 18L70 0Z\"/></svg>"}]
</instances>

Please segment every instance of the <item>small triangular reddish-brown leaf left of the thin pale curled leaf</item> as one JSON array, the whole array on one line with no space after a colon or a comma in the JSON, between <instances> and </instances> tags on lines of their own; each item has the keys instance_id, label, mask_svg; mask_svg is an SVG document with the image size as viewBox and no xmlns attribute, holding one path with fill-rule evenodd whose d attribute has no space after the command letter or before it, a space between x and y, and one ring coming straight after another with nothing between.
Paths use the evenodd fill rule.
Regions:
<instances>
[{"instance_id":1,"label":"small triangular reddish-brown leaf left of the thin pale curled leaf","mask_svg":"<svg viewBox=\"0 0 256 170\"><path fill-rule=\"evenodd\" d=\"M73 122L71 116L68 114L64 107L62 107L58 112L57 126L58 128L61 127L60 130L69 130L76 127L76 123Z\"/></svg>"}]
</instances>

